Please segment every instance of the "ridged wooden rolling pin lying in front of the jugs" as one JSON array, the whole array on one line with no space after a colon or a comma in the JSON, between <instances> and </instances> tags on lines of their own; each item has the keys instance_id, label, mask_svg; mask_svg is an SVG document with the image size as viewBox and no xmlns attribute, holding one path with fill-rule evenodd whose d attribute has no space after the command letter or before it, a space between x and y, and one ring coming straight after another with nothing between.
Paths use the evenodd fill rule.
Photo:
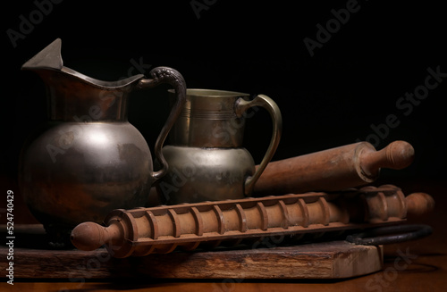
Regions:
<instances>
[{"instance_id":1,"label":"ridged wooden rolling pin lying in front of the jugs","mask_svg":"<svg viewBox=\"0 0 447 292\"><path fill-rule=\"evenodd\" d=\"M417 202L417 204L414 204ZM383 186L355 193L307 193L220 202L114 210L105 227L84 222L72 230L81 250L105 245L114 257L192 250L243 238L358 229L405 221L407 213L433 208L431 196L407 198L400 188ZM411 207L411 208L409 208Z\"/></svg>"}]
</instances>

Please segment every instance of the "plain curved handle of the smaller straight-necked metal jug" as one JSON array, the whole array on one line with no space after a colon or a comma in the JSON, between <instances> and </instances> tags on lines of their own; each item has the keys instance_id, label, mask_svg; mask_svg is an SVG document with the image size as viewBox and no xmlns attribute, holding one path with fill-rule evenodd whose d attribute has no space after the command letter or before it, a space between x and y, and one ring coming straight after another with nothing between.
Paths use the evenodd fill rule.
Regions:
<instances>
[{"instance_id":1,"label":"plain curved handle of the smaller straight-necked metal jug","mask_svg":"<svg viewBox=\"0 0 447 292\"><path fill-rule=\"evenodd\" d=\"M266 166L272 160L274 152L279 145L281 133L283 129L283 116L278 105L274 100L265 95L258 95L253 100L247 101L240 98L236 101L235 112L238 117L242 117L242 114L247 111L250 107L260 106L266 109L270 114L273 122L272 138L270 139L270 144L267 148L266 154L262 159L261 163L257 167L255 173L245 180L244 193L249 196L255 187L257 179L261 176L262 172L266 169Z\"/></svg>"}]
</instances>

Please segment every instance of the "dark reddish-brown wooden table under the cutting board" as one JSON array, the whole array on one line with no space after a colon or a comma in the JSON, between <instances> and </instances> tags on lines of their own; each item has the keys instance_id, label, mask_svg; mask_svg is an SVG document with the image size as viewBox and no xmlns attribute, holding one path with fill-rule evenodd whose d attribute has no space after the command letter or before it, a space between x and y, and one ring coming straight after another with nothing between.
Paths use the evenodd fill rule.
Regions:
<instances>
[{"instance_id":1,"label":"dark reddish-brown wooden table under the cutting board","mask_svg":"<svg viewBox=\"0 0 447 292\"><path fill-rule=\"evenodd\" d=\"M2 181L17 189L13 181ZM386 183L390 181L381 182ZM447 287L447 188L442 182L427 180L392 181L401 187L406 195L424 191L434 197L434 212L418 218L409 218L409 223L429 224L434 234L428 238L384 246L384 267L367 275L343 279L250 279L246 277L222 279L154 279L149 277L105 278L92 277L96 270L92 261L84 269L85 277L55 278L44 277L51 271L40 271L39 276L14 279L14 285L3 278L0 291L444 291ZM379 185L379 184L377 184ZM15 198L15 197L14 197ZM4 208L1 202L0 210ZM14 202L16 224L36 223L20 199ZM4 216L0 218L4 223ZM32 243L30 243L32 244ZM6 254L2 254L5 262ZM21 264L24 263L21 259ZM25 261L26 262L26 261ZM86 263L87 264L87 263ZM269 263L265 263L268 265ZM51 270L51 269L50 269ZM81 270L82 271L82 270ZM5 271L4 271L5 272ZM31 272L31 271L30 271ZM37 272L38 271L34 271ZM57 271L54 271L57 272ZM90 272L90 274L89 274ZM36 275L36 274L35 274Z\"/></svg>"}]
</instances>

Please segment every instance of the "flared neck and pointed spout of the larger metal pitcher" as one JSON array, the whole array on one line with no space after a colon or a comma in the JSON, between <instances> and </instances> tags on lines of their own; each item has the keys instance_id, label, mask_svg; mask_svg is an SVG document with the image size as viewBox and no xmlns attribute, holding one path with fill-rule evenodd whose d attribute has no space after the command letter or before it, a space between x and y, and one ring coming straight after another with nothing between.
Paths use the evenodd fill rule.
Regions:
<instances>
[{"instance_id":1,"label":"flared neck and pointed spout of the larger metal pitcher","mask_svg":"<svg viewBox=\"0 0 447 292\"><path fill-rule=\"evenodd\" d=\"M144 75L117 81L90 78L63 66L61 47L57 38L21 66L44 81L50 120L127 121L127 96Z\"/></svg>"}]
</instances>

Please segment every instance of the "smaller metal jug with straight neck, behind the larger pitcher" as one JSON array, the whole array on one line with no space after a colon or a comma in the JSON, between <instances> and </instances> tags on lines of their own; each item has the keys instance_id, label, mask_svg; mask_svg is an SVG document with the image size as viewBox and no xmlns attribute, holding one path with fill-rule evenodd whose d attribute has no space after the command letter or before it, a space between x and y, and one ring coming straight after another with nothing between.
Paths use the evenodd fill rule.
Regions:
<instances>
[{"instance_id":1,"label":"smaller metal jug with straight neck, behind the larger pitcher","mask_svg":"<svg viewBox=\"0 0 447 292\"><path fill-rule=\"evenodd\" d=\"M244 115L255 106L265 108L273 121L270 145L256 171L251 154L242 147ZM156 184L158 196L165 204L249 196L276 151L282 125L281 112L268 96L250 101L248 94L239 92L187 89L181 116L163 148L169 170Z\"/></svg>"}]
</instances>

